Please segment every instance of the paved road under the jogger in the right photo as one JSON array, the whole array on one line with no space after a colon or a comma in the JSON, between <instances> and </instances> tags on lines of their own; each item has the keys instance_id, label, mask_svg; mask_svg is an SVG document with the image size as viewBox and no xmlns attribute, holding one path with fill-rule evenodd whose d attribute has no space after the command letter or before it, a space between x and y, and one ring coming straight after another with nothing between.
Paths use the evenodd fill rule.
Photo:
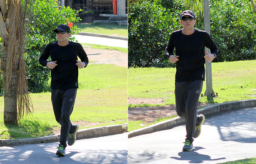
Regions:
<instances>
[{"instance_id":1,"label":"paved road under the jogger in the right photo","mask_svg":"<svg viewBox=\"0 0 256 164\"><path fill-rule=\"evenodd\" d=\"M256 157L256 108L207 117L193 152L182 152L185 125L128 139L128 163L216 164Z\"/></svg>"}]
</instances>

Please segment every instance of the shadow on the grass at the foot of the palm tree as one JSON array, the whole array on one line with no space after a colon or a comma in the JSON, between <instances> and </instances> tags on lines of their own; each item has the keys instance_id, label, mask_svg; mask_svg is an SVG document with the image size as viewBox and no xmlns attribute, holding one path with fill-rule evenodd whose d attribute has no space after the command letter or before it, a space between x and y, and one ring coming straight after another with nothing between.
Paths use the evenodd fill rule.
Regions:
<instances>
[{"instance_id":1,"label":"shadow on the grass at the foot of the palm tree","mask_svg":"<svg viewBox=\"0 0 256 164\"><path fill-rule=\"evenodd\" d=\"M34 138L53 134L53 128L37 120L23 120L19 124L5 124L8 130L3 130L1 136L10 136L9 139ZM6 133L8 132L8 133Z\"/></svg>"}]
</instances>

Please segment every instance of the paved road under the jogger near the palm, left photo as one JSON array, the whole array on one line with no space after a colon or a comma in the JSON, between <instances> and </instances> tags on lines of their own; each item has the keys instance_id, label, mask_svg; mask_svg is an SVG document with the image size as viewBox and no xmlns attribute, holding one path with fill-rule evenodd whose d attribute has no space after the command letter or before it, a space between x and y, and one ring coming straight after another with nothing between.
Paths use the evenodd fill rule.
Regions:
<instances>
[{"instance_id":1,"label":"paved road under the jogger near the palm, left photo","mask_svg":"<svg viewBox=\"0 0 256 164\"><path fill-rule=\"evenodd\" d=\"M127 133L77 140L66 156L55 155L58 142L0 147L3 164L127 164Z\"/></svg>"}]
</instances>

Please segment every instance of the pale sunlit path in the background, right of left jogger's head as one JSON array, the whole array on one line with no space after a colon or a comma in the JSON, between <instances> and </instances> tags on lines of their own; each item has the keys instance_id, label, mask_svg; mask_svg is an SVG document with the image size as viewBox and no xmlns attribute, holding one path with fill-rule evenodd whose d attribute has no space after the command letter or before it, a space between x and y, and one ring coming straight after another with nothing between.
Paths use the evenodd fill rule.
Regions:
<instances>
[{"instance_id":1,"label":"pale sunlit path in the background, right of left jogger's head","mask_svg":"<svg viewBox=\"0 0 256 164\"><path fill-rule=\"evenodd\" d=\"M128 40L102 38L96 36L73 35L78 43L100 44L103 46L128 48Z\"/></svg>"}]
</instances>

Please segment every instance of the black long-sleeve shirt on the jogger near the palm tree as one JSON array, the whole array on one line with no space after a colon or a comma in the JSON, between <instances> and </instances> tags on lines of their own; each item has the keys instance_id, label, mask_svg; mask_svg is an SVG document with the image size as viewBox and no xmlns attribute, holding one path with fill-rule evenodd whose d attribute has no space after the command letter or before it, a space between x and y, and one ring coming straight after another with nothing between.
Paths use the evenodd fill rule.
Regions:
<instances>
[{"instance_id":1,"label":"black long-sleeve shirt on the jogger near the palm tree","mask_svg":"<svg viewBox=\"0 0 256 164\"><path fill-rule=\"evenodd\" d=\"M57 61L57 66L51 70L52 89L78 88L77 56L87 66L89 60L86 52L79 43L69 42L67 46L59 46L57 42L49 43L39 58L39 63L46 66L47 59L51 56L52 61Z\"/></svg>"}]
</instances>

